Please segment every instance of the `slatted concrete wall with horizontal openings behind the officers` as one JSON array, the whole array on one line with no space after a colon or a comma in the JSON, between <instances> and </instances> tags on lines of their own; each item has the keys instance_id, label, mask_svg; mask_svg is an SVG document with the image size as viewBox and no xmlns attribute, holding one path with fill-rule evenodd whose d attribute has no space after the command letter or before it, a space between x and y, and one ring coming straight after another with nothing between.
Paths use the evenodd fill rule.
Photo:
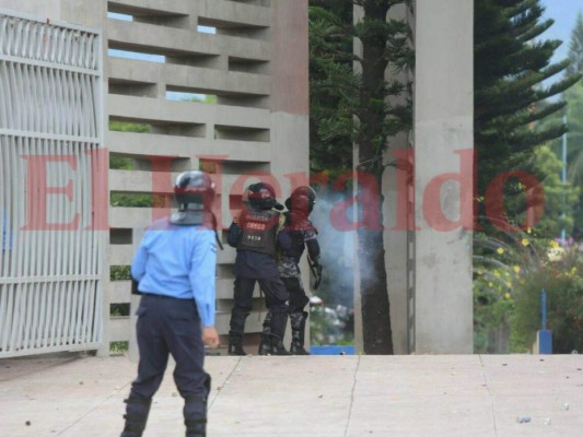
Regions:
<instances>
[{"instance_id":1,"label":"slatted concrete wall with horizontal openings behind the officers","mask_svg":"<svg viewBox=\"0 0 583 437\"><path fill-rule=\"evenodd\" d=\"M232 210L241 206L243 186L257 180L253 175L271 175L282 200L292 187L284 175L307 177L307 0L0 0L0 8L103 31L105 126L130 121L149 129L106 129L110 156L136 161L131 170L109 172L110 193L155 191L165 194L170 205L174 176L212 161L217 165L206 169L215 172L218 213L226 228ZM108 17L107 12L125 20ZM199 26L213 27L214 33ZM117 50L117 56L107 50ZM128 59L136 52L142 59ZM215 102L177 102L168 94L173 92L209 95ZM303 185L307 179L294 181ZM109 209L107 276L109 265L131 262L140 232L168 211ZM221 334L229 330L234 258L228 246L219 253ZM128 281L113 281L106 288L108 319L110 304L130 302L130 287ZM258 341L265 314L258 290L256 297L247 319L250 343ZM130 333L129 317L112 319L101 352L108 353L108 342L127 341Z\"/></svg>"}]
</instances>

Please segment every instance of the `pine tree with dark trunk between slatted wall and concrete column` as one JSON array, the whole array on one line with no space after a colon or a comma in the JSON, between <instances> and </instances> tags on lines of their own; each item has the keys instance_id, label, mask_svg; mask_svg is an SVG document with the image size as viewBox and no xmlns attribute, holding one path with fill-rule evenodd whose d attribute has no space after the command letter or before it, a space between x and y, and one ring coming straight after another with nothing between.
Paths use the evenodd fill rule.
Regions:
<instances>
[{"instance_id":1,"label":"pine tree with dark trunk between slatted wall and concrete column","mask_svg":"<svg viewBox=\"0 0 583 437\"><path fill-rule=\"evenodd\" d=\"M351 168L355 144L359 155L354 167L368 175L365 182L358 179L359 196L369 202L366 223L358 228L366 354L393 353L380 193L390 146L387 139L411 126L410 101L404 106L389 103L389 97L407 96L409 84L385 80L387 69L408 69L415 58L408 24L387 19L392 7L404 3L409 1L320 0L312 1L311 11L311 67L317 68L311 82L312 127L316 127L313 133L317 135L311 149L313 167L331 164ZM352 15L350 20L347 16L354 5L362 8L363 17L352 24ZM348 7L347 12L343 8ZM362 45L360 55L352 51L354 38Z\"/></svg>"}]
</instances>

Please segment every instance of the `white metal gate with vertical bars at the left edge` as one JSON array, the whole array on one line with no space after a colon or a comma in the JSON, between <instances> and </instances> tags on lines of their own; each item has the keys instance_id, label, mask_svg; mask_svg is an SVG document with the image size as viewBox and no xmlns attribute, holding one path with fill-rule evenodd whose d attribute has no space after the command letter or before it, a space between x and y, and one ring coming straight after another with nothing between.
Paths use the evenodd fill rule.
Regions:
<instances>
[{"instance_id":1,"label":"white metal gate with vertical bars at the left edge","mask_svg":"<svg viewBox=\"0 0 583 437\"><path fill-rule=\"evenodd\" d=\"M102 56L98 31L0 10L0 357L102 340Z\"/></svg>"}]
</instances>

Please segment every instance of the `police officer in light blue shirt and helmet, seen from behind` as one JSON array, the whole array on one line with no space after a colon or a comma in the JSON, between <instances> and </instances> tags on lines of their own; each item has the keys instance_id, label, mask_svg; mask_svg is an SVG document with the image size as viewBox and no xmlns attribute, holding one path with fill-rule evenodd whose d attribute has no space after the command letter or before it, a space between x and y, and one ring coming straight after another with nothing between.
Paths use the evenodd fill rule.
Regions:
<instances>
[{"instance_id":1,"label":"police officer in light blue shirt and helmet, seen from behind","mask_svg":"<svg viewBox=\"0 0 583 437\"><path fill-rule=\"evenodd\" d=\"M219 346L214 186L209 175L186 172L177 177L174 193L178 212L147 231L131 263L142 295L136 312L140 362L126 400L121 437L142 436L170 354L176 362L174 381L185 400L186 436L206 436L210 376L203 369L205 344Z\"/></svg>"}]
</instances>

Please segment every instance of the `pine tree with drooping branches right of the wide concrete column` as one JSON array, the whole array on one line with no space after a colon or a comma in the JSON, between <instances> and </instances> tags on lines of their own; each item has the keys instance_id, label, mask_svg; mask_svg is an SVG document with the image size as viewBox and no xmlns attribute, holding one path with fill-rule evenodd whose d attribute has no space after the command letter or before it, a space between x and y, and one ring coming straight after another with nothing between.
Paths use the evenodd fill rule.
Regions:
<instances>
[{"instance_id":1,"label":"pine tree with drooping branches right of the wide concrete column","mask_svg":"<svg viewBox=\"0 0 583 437\"><path fill-rule=\"evenodd\" d=\"M543 19L539 0L475 1L475 149L478 194L492 179L511 170L537 175L534 150L567 130L561 121L534 129L534 123L561 111L564 101L548 101L580 80L564 72L569 60L551 63L561 42L541 35L552 24ZM540 176L540 175L539 175ZM544 175L543 175L544 176ZM520 197L520 181L506 186L508 198ZM511 208L520 209L520 205Z\"/></svg>"}]
</instances>

